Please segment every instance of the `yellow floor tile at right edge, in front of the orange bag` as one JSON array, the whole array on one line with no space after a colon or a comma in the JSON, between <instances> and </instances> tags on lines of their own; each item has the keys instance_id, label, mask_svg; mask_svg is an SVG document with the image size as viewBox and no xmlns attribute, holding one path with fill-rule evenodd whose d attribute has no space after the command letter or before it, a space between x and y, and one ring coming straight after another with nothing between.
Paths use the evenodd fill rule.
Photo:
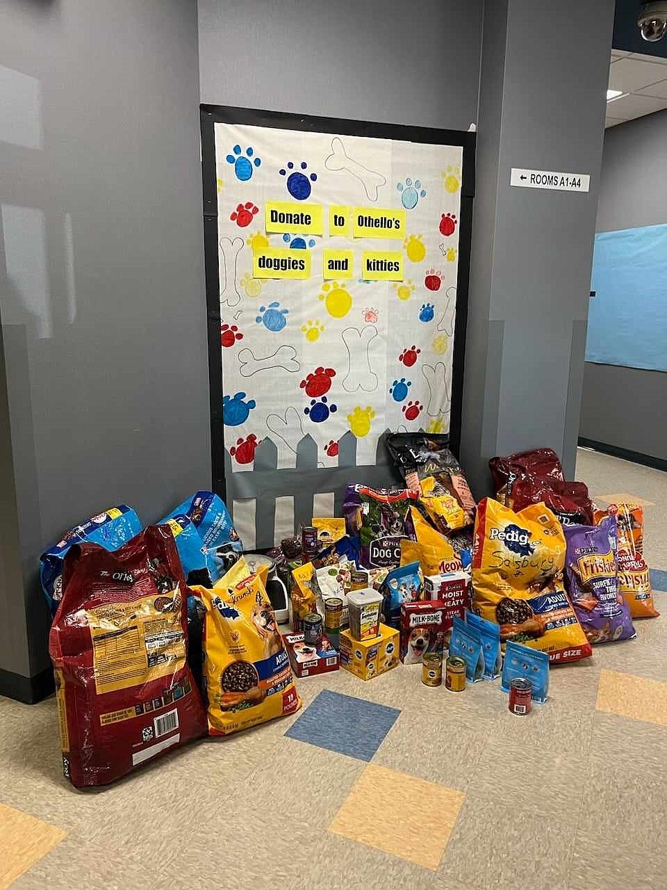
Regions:
<instances>
[{"instance_id":1,"label":"yellow floor tile at right edge, in front of the orange bag","mask_svg":"<svg viewBox=\"0 0 667 890\"><path fill-rule=\"evenodd\" d=\"M597 708L608 714L667 726L667 683L603 670L599 678Z\"/></svg>"}]
</instances>

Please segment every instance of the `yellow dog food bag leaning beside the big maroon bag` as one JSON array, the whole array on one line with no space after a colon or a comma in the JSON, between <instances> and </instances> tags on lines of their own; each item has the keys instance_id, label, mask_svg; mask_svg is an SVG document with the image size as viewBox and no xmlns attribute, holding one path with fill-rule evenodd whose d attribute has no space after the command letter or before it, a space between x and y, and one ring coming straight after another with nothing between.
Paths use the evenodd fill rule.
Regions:
<instances>
[{"instance_id":1,"label":"yellow dog food bag leaning beside the big maroon bag","mask_svg":"<svg viewBox=\"0 0 667 890\"><path fill-rule=\"evenodd\" d=\"M236 562L204 603L204 679L210 735L229 735L301 708L276 615L261 578Z\"/></svg>"}]
</instances>

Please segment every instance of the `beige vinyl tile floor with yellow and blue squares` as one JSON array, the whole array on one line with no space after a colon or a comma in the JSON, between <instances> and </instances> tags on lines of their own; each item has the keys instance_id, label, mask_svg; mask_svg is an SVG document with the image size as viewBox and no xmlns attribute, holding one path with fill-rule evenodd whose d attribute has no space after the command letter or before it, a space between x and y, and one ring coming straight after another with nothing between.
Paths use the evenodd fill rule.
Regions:
<instances>
[{"instance_id":1,"label":"beige vinyl tile floor with yellow and blue squares","mask_svg":"<svg viewBox=\"0 0 667 890\"><path fill-rule=\"evenodd\" d=\"M644 501L667 612L667 474L580 449L577 478ZM55 701L0 698L0 890L667 886L667 619L636 627L553 669L526 717L498 681L340 670L297 682L296 715L87 792L62 779Z\"/></svg>"}]
</instances>

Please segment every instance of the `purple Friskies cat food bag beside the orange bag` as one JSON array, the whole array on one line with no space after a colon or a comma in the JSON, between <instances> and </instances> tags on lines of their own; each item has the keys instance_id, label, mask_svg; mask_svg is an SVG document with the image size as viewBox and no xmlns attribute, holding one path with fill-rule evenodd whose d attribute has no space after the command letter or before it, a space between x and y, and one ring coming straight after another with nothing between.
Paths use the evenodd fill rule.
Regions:
<instances>
[{"instance_id":1,"label":"purple Friskies cat food bag beside the orange bag","mask_svg":"<svg viewBox=\"0 0 667 890\"><path fill-rule=\"evenodd\" d=\"M618 590L616 520L565 529L570 599L590 643L630 640L637 634Z\"/></svg>"}]
</instances>

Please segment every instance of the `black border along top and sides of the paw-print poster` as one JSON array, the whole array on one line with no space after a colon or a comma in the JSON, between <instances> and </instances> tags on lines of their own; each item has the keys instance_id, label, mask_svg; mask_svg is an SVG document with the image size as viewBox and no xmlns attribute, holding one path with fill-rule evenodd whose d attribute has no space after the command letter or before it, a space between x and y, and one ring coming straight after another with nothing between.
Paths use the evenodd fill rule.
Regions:
<instances>
[{"instance_id":1,"label":"black border along top and sides of the paw-print poster","mask_svg":"<svg viewBox=\"0 0 667 890\"><path fill-rule=\"evenodd\" d=\"M268 126L283 130L315 131L342 136L370 136L374 139L395 139L402 142L422 142L428 145L461 146L463 157L459 217L459 267L456 283L456 320L452 360L452 407L449 419L450 448L458 457L461 443L465 336L468 323L472 202L475 197L475 134L462 130L439 130L432 127L403 124L374 124L368 121L343 120L337 117L314 117L289 114L284 111L233 108L228 105L201 105L200 114L213 491L223 500L226 499L224 425L222 423L224 381L222 379L220 348L221 312L218 276L218 188L215 167L216 124Z\"/></svg>"}]
</instances>

